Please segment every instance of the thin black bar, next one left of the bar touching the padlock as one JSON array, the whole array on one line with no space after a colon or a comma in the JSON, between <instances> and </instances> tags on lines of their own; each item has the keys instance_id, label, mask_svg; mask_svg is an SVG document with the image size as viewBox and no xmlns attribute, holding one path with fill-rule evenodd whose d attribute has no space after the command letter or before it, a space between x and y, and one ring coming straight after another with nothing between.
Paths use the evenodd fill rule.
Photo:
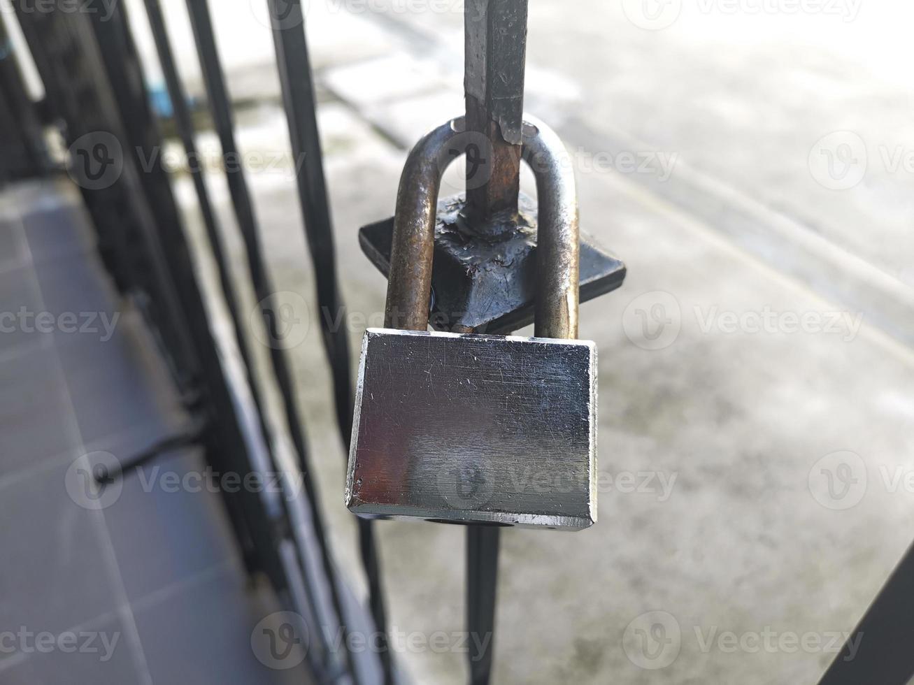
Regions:
<instances>
[{"instance_id":1,"label":"thin black bar, next one left of the bar touching the padlock","mask_svg":"<svg viewBox=\"0 0 914 685\"><path fill-rule=\"evenodd\" d=\"M275 311L275 308L271 306L275 293L271 286L270 274L266 268L266 263L260 249L259 229L257 220L254 216L253 205L251 203L247 181L245 180L244 170L238 163L228 164L228 160L239 160L240 157L238 145L235 142L231 103L228 98L228 90L218 58L216 37L213 31L207 0L187 0L187 9L190 15L194 40L197 44L197 53L200 58L201 67L203 68L203 78L206 84L213 123L216 127L224 159L227 160L226 177L228 179L228 189L235 215L238 218L241 235L244 239L245 247L247 248L251 280L253 281L256 297L260 302L261 312L264 314L265 324L269 329L270 339L278 340L280 339L278 329L279 321L277 321L276 317L266 315L269 311ZM350 672L353 672L351 655L349 654L348 649L346 649L348 640L346 639L345 613L340 600L339 590L335 582L335 569L326 541L324 516L320 509L317 489L309 464L301 416L299 415L298 406L295 401L295 388L292 383L292 373L282 349L279 349L276 345L272 345L270 356L273 372L282 395L286 423L292 435L292 443L298 452L298 458L301 464L305 495L314 521L314 538L321 551L321 562L324 568L324 574L327 577L327 586L330 591L331 602L335 614L339 619L340 627L343 630L344 639L342 640L342 645L345 652L345 661ZM335 656L332 655L331 650L327 651L327 655ZM329 666L332 667L333 665L331 664Z\"/></svg>"}]
</instances>

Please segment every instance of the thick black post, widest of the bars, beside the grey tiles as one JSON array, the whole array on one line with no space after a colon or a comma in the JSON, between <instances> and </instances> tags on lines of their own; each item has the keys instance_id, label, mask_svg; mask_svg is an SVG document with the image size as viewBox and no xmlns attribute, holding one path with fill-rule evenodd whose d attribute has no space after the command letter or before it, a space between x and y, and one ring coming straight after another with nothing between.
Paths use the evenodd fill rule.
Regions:
<instances>
[{"instance_id":1,"label":"thick black post, widest of the bars, beside the grey tiles","mask_svg":"<svg viewBox=\"0 0 914 685\"><path fill-rule=\"evenodd\" d=\"M16 3L16 13L48 92L48 109L55 117L66 121L68 142L86 132L105 131L115 135L124 148L132 150L137 141L124 119L125 112L143 115L142 75L135 90L116 92L113 89L109 73L112 63L102 58L101 37L94 33L98 26L93 26L87 13L59 11L53 7L38 13L34 7L30 9L19 3ZM122 24L117 26L124 28ZM115 45L120 44L115 42ZM123 68L129 60L129 53L122 52L117 64ZM154 134L154 131L147 133ZM138 160L133 155L125 155L123 174L105 188L83 187L83 197L97 221L108 222L116 216L117 227L136 230L135 238L140 244L133 252L139 254L134 257L122 251L117 257L131 257L131 266L134 259L139 263L151 262L154 276L143 280L132 274L133 287L152 287L150 294L153 297L174 300L174 307L169 305L160 313L170 319L171 327L188 333L194 358L183 361L190 364L195 376L196 360L201 363L199 406L207 409L207 417L214 427L206 432L207 457L218 456L218 469L243 472L245 465L250 464L250 453L243 439L228 379L218 361L216 343L207 325L195 271L187 261L181 227L155 225L149 206L152 199L147 195L147 186L141 183L141 176ZM169 193L166 188L165 195ZM164 237L160 237L160 231ZM180 297L175 291L180 292ZM225 503L246 561L256 558L258 568L282 589L285 584L282 562L273 548L271 522L265 516L258 496L241 492L227 497Z\"/></svg>"}]
</instances>

